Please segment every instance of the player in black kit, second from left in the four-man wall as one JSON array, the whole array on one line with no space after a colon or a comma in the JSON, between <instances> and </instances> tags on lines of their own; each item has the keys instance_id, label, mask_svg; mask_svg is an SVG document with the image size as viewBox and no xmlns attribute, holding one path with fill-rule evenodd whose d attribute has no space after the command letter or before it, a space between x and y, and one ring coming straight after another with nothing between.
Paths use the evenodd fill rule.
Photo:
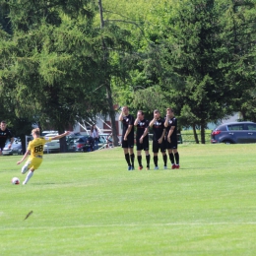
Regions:
<instances>
[{"instance_id":1,"label":"player in black kit, second from left in the four-man wall","mask_svg":"<svg viewBox=\"0 0 256 256\"><path fill-rule=\"evenodd\" d=\"M149 121L145 120L142 110L138 110L137 118L134 122L134 126L137 127L136 132L136 145L137 145L137 160L139 163L139 169L143 169L142 165L142 150L145 151L147 169L150 169L151 156L149 153Z\"/></svg>"}]
</instances>

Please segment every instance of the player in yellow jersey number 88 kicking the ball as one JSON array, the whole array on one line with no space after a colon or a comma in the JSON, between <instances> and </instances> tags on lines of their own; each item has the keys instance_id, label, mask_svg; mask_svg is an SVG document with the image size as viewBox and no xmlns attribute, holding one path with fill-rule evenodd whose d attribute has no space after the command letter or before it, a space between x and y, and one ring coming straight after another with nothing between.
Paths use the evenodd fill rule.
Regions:
<instances>
[{"instance_id":1,"label":"player in yellow jersey number 88 kicking the ball","mask_svg":"<svg viewBox=\"0 0 256 256\"><path fill-rule=\"evenodd\" d=\"M46 142L50 142L52 140L58 140L58 139L60 139L64 136L67 136L69 134L70 134L70 132L65 132L61 135L47 138L47 137L40 137L40 129L39 128L35 128L32 130L33 140L29 143L27 152L25 153L23 159L17 161L17 164L20 164L23 160L26 160L26 158L31 154L29 160L27 160L25 165L22 167L23 174L25 174L28 170L30 170L25 181L23 182L24 185L28 183L28 181L32 177L33 171L35 169L37 169L42 162L44 144Z\"/></svg>"}]
</instances>

